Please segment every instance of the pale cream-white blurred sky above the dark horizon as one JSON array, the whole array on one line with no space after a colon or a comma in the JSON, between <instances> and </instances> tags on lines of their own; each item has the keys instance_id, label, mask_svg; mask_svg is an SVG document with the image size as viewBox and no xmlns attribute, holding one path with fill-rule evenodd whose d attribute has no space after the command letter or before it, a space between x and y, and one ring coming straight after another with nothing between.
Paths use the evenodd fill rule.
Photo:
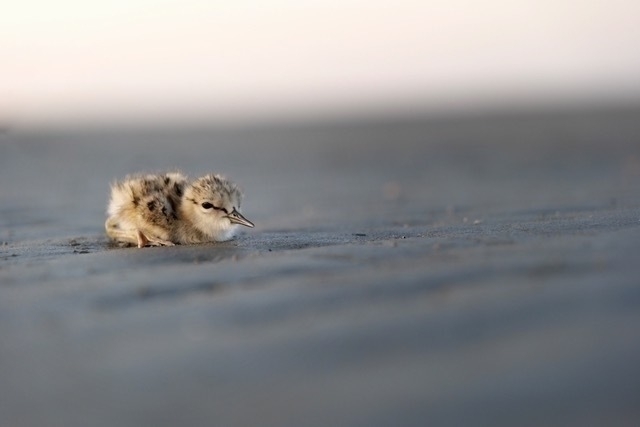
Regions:
<instances>
[{"instance_id":1,"label":"pale cream-white blurred sky above the dark horizon","mask_svg":"<svg viewBox=\"0 0 640 427\"><path fill-rule=\"evenodd\" d=\"M640 98L640 1L20 0L0 124Z\"/></svg>"}]
</instances>

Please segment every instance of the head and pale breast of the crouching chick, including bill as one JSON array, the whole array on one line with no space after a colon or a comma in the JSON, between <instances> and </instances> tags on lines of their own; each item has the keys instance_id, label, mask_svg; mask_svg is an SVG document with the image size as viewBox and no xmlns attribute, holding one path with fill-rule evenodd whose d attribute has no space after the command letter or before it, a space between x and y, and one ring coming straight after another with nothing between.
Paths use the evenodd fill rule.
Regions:
<instances>
[{"instance_id":1,"label":"head and pale breast of the crouching chick, including bill","mask_svg":"<svg viewBox=\"0 0 640 427\"><path fill-rule=\"evenodd\" d=\"M174 228L177 243L224 242L238 225L253 228L240 213L242 192L222 175L209 174L187 185Z\"/></svg>"}]
</instances>

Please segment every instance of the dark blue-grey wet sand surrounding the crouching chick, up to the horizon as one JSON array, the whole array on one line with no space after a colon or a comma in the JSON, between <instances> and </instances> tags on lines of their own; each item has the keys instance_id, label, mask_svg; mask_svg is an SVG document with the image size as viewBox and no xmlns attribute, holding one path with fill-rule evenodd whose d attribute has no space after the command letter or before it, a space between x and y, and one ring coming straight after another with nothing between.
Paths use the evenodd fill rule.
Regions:
<instances>
[{"instance_id":1,"label":"dark blue-grey wet sand surrounding the crouching chick, up to the horizon","mask_svg":"<svg viewBox=\"0 0 640 427\"><path fill-rule=\"evenodd\" d=\"M640 424L640 109L0 135L2 426ZM224 172L232 242L108 184Z\"/></svg>"}]
</instances>

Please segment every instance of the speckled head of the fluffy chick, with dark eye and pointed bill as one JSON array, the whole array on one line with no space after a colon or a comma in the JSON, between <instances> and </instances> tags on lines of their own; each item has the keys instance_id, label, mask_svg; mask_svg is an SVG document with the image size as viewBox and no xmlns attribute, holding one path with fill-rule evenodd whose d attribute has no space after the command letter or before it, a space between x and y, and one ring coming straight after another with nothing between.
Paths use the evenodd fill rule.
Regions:
<instances>
[{"instance_id":1,"label":"speckled head of the fluffy chick, with dark eye and pointed bill","mask_svg":"<svg viewBox=\"0 0 640 427\"><path fill-rule=\"evenodd\" d=\"M214 240L227 240L236 225L254 226L240 213L242 192L221 175L195 180L185 189L183 200L193 226Z\"/></svg>"}]
</instances>

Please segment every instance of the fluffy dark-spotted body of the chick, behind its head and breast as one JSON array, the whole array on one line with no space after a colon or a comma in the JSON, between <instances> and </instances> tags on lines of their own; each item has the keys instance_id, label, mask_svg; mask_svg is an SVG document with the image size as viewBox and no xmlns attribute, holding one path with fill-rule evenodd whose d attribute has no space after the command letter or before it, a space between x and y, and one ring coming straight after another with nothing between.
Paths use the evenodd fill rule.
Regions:
<instances>
[{"instance_id":1,"label":"fluffy dark-spotted body of the chick, behind its head and breast","mask_svg":"<svg viewBox=\"0 0 640 427\"><path fill-rule=\"evenodd\" d=\"M107 235L139 248L172 246L187 179L179 172L129 175L111 186Z\"/></svg>"}]
</instances>

